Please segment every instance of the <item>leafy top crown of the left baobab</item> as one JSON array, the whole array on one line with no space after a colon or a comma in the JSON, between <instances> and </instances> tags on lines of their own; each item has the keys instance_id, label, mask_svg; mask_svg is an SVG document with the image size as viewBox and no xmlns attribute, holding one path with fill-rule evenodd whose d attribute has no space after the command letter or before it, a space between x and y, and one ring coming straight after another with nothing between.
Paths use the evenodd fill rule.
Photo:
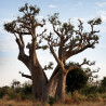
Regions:
<instances>
[{"instance_id":1,"label":"leafy top crown of the left baobab","mask_svg":"<svg viewBox=\"0 0 106 106\"><path fill-rule=\"evenodd\" d=\"M28 25L28 27L30 28L32 23L38 23L36 16L39 14L40 9L37 8L37 5L29 6L26 3L18 11L23 13L23 16L22 17L18 16L16 19L4 24L4 29L11 34L29 35L30 32L26 28L26 25ZM32 23L30 22L30 18L34 21ZM42 22L44 23L44 19Z\"/></svg>"}]
</instances>

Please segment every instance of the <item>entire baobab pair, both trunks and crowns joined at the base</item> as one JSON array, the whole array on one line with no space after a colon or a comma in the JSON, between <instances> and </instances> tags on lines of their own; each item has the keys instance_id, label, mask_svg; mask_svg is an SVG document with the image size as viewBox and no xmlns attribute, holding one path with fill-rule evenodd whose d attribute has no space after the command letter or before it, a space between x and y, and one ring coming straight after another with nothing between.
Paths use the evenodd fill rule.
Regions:
<instances>
[{"instance_id":1,"label":"entire baobab pair, both trunks and crowns joined at the base","mask_svg":"<svg viewBox=\"0 0 106 106\"><path fill-rule=\"evenodd\" d=\"M91 26L91 31L87 32L83 31L83 23L80 19L78 29L75 30L70 22L61 23L58 14L55 13L49 17L54 34L45 34L47 29L41 34L37 34L37 27L43 28L45 25L45 19L41 22L37 19L40 9L25 4L19 9L19 12L23 13L23 16L18 16L15 21L4 24L4 29L15 36L19 50L18 59L30 71L30 75L21 74L23 77L32 80L32 94L35 98L45 101L49 96L58 96L64 102L67 74L84 64L94 65L94 62L90 63L84 59L80 65L67 68L65 65L66 61L89 48L94 49L95 44L98 43L98 36L96 34L100 32L94 30L94 26L100 25L102 21L101 18L95 18L88 22ZM31 42L26 47L23 39L24 36L31 37ZM41 42L42 39L47 41L47 44ZM29 50L29 55L25 54L25 49ZM50 80L48 80L44 69L51 68L52 63L45 67L41 67L37 57L37 50L39 49L49 49L57 63Z\"/></svg>"}]
</instances>

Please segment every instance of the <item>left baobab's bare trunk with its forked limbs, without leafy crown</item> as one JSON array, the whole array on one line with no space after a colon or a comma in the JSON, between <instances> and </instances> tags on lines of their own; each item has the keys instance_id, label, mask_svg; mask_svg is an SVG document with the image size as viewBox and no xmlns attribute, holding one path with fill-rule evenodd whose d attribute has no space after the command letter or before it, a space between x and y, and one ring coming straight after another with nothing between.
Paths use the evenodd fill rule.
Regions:
<instances>
[{"instance_id":1,"label":"left baobab's bare trunk with its forked limbs, without leafy crown","mask_svg":"<svg viewBox=\"0 0 106 106\"><path fill-rule=\"evenodd\" d=\"M23 77L30 78L32 80L32 95L34 100L41 100L43 95L43 87L48 82L48 78L42 70L36 54L36 40L32 40L32 45L29 49L29 56L24 52L24 44L16 38L18 44L19 54L18 59L23 62L27 68L30 70L31 76L23 75Z\"/></svg>"}]
</instances>

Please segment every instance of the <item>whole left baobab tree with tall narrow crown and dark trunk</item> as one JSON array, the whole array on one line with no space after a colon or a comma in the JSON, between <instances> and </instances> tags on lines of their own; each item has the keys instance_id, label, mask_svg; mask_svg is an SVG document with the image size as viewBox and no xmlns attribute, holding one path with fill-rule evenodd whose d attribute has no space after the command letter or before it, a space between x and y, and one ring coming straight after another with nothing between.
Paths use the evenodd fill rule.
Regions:
<instances>
[{"instance_id":1,"label":"whole left baobab tree with tall narrow crown and dark trunk","mask_svg":"<svg viewBox=\"0 0 106 106\"><path fill-rule=\"evenodd\" d=\"M25 4L25 6L22 6L18 11L23 13L23 16L18 16L17 19L4 24L4 28L15 36L19 50L18 59L26 65L31 75L31 77L24 74L22 74L22 76L32 79L34 97L40 100L48 79L36 53L36 50L38 49L37 38L39 36L37 35L36 29L38 26L43 27L45 21L42 19L41 23L37 21L37 15L40 11L37 6L28 6L28 4ZM27 47L25 47L23 36L31 36L31 43L28 43ZM25 54L25 48L29 50L29 55Z\"/></svg>"}]
</instances>

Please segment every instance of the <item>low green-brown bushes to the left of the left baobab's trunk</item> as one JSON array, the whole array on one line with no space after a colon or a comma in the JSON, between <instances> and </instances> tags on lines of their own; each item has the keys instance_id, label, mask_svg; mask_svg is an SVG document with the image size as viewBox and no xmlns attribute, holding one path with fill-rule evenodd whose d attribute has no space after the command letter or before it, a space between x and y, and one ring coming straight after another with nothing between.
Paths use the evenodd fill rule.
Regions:
<instances>
[{"instance_id":1,"label":"low green-brown bushes to the left of the left baobab's trunk","mask_svg":"<svg viewBox=\"0 0 106 106\"><path fill-rule=\"evenodd\" d=\"M19 84L15 84L14 82L18 81L12 81L12 85L10 87L2 87L0 88L0 98L3 96L8 96L9 100L16 100L16 101L24 101L24 100L31 100L31 89L32 84L30 82L25 82L22 87ZM19 85L19 87L18 87Z\"/></svg>"}]
</instances>

